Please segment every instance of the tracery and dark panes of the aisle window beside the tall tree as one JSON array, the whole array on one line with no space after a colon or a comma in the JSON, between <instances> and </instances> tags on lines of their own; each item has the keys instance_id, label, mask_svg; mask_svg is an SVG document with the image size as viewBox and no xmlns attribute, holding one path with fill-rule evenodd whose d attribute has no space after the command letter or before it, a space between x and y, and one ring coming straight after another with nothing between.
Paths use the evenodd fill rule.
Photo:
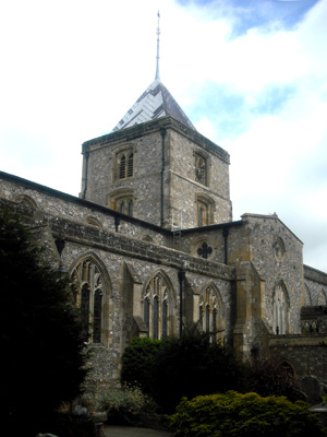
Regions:
<instances>
[{"instance_id":1,"label":"tracery and dark panes of the aisle window beside the tall tree","mask_svg":"<svg viewBox=\"0 0 327 437\"><path fill-rule=\"evenodd\" d=\"M72 273L76 305L82 309L85 336L92 343L101 343L104 327L104 281L97 265L86 259Z\"/></svg>"}]
</instances>

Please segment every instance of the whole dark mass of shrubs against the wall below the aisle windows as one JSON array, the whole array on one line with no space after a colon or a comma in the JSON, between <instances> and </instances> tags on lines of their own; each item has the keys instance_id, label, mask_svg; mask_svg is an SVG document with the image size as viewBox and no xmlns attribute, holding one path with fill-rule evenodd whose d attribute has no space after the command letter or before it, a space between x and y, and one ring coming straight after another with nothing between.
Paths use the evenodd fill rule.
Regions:
<instances>
[{"instance_id":1,"label":"whole dark mass of shrubs against the wall below the aisle windows","mask_svg":"<svg viewBox=\"0 0 327 437\"><path fill-rule=\"evenodd\" d=\"M137 381L168 414L182 397L240 390L243 379L243 365L233 351L196 323L184 327L181 336L161 342L135 339L123 355L122 380Z\"/></svg>"}]
</instances>

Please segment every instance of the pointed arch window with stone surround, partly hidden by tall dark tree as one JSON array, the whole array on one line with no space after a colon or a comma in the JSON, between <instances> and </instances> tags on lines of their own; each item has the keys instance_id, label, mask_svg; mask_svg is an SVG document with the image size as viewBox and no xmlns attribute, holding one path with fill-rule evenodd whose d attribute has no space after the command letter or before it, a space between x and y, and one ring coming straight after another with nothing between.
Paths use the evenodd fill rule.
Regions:
<instances>
[{"instance_id":1,"label":"pointed arch window with stone surround, partly hidden by tall dark tree","mask_svg":"<svg viewBox=\"0 0 327 437\"><path fill-rule=\"evenodd\" d=\"M87 341L108 345L111 282L107 269L95 253L88 252L71 265L69 274Z\"/></svg>"}]
</instances>

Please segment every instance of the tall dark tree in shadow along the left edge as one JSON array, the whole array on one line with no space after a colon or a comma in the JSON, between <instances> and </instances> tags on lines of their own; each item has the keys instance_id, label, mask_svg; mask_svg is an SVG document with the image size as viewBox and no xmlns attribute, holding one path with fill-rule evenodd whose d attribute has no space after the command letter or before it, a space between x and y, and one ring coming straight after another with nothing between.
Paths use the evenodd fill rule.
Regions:
<instances>
[{"instance_id":1,"label":"tall dark tree in shadow along the left edge","mask_svg":"<svg viewBox=\"0 0 327 437\"><path fill-rule=\"evenodd\" d=\"M20 426L39 432L41 418L73 400L85 377L83 330L68 280L32 243L20 217L1 210L1 417L12 435Z\"/></svg>"}]
</instances>

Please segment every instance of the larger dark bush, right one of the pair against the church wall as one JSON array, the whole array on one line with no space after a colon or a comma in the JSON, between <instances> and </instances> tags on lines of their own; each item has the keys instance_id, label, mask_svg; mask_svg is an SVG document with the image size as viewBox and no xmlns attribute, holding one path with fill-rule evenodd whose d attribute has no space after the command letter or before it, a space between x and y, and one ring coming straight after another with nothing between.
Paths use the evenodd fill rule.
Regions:
<instances>
[{"instance_id":1,"label":"larger dark bush, right one of the pair against the church wall","mask_svg":"<svg viewBox=\"0 0 327 437\"><path fill-rule=\"evenodd\" d=\"M233 351L213 341L197 324L162 342L156 359L154 398L166 413L183 397L242 390L243 366Z\"/></svg>"}]
</instances>

